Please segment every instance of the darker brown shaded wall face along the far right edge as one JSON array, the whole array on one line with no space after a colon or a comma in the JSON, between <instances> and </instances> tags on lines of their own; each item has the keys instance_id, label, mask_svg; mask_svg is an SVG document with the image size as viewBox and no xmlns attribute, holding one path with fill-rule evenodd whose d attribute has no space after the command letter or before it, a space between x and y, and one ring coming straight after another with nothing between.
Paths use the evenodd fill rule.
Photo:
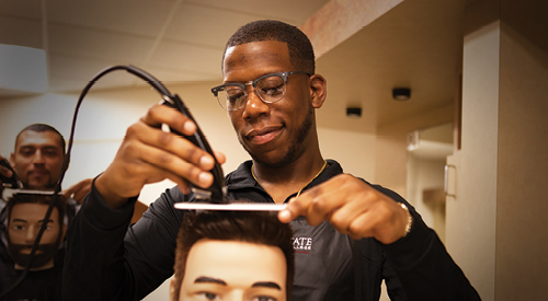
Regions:
<instances>
[{"instance_id":1,"label":"darker brown shaded wall face along the far right edge","mask_svg":"<svg viewBox=\"0 0 548 301\"><path fill-rule=\"evenodd\" d=\"M539 34L546 39L546 32ZM548 53L506 23L500 39L495 300L544 300Z\"/></svg>"}]
</instances>

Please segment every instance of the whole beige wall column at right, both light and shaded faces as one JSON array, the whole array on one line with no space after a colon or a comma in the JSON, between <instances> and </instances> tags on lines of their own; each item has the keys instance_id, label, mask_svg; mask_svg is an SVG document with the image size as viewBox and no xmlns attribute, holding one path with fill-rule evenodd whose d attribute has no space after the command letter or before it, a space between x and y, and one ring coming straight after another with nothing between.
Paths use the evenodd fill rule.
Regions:
<instances>
[{"instance_id":1,"label":"whole beige wall column at right, both light and shaded faces","mask_svg":"<svg viewBox=\"0 0 548 301\"><path fill-rule=\"evenodd\" d=\"M484 14L499 11L499 21L469 13L476 27L465 36L463 146L448 159L457 197L447 199L447 248L482 300L544 300L548 43L546 25L527 13L546 4L499 4Z\"/></svg>"}]
</instances>

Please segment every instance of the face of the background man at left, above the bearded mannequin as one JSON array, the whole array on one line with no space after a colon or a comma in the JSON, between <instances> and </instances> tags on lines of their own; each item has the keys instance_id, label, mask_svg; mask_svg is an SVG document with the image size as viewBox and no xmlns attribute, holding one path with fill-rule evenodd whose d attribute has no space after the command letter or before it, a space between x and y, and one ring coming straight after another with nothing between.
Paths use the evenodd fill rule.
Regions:
<instances>
[{"instance_id":1,"label":"face of the background man at left, above the bearded mannequin","mask_svg":"<svg viewBox=\"0 0 548 301\"><path fill-rule=\"evenodd\" d=\"M62 169L64 149L54 131L23 131L11 164L25 188L54 188Z\"/></svg>"}]
</instances>

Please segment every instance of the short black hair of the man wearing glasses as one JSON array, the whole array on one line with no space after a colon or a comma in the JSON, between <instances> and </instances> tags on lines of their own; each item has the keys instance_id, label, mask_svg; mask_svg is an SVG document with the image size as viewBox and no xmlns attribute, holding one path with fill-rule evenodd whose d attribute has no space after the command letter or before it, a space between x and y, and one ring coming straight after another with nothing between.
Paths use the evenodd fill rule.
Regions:
<instances>
[{"instance_id":1,"label":"short black hair of the man wearing glasses","mask_svg":"<svg viewBox=\"0 0 548 301\"><path fill-rule=\"evenodd\" d=\"M298 71L307 71L309 74L316 73L313 47L308 36L297 26L275 20L253 21L238 28L225 46L221 70L225 63L225 54L228 48L251 42L262 40L278 40L287 43L289 61L292 65L297 68Z\"/></svg>"}]
</instances>

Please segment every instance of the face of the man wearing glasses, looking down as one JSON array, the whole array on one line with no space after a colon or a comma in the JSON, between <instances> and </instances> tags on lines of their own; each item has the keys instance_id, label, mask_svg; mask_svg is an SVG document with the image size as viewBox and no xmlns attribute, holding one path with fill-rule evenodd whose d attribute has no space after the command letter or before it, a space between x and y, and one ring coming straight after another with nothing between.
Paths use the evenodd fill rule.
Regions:
<instances>
[{"instance_id":1,"label":"face of the man wearing glasses, looking down","mask_svg":"<svg viewBox=\"0 0 548 301\"><path fill-rule=\"evenodd\" d=\"M253 81L262 76L295 70L287 44L277 40L247 43L227 49L224 83ZM263 103L247 86L248 100L238 111L229 112L238 139L251 157L267 166L283 166L315 142L312 94L307 74L287 78L284 97Z\"/></svg>"}]
</instances>

